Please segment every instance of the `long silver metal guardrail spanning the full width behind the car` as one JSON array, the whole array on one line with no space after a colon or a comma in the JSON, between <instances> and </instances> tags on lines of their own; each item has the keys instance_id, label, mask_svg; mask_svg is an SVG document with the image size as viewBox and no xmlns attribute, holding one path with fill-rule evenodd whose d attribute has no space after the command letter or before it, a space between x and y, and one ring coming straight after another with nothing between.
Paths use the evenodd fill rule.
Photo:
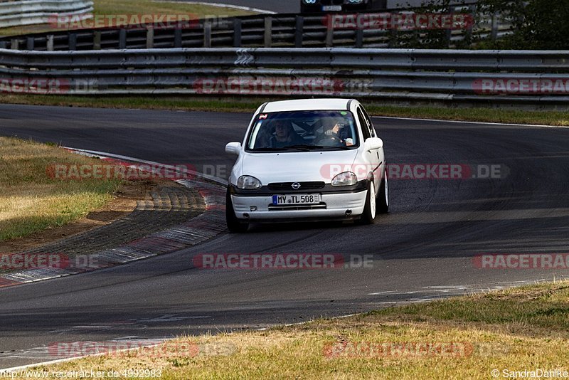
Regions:
<instances>
[{"instance_id":1,"label":"long silver metal guardrail spanning the full width behind the car","mask_svg":"<svg viewBox=\"0 0 569 380\"><path fill-rule=\"evenodd\" d=\"M518 91L501 88L508 81L518 83ZM542 88L546 81L550 91ZM540 83L539 90L527 90L527 83ZM48 94L324 95L567 106L569 51L0 49L0 90L33 93L33 86Z\"/></svg>"}]
</instances>

